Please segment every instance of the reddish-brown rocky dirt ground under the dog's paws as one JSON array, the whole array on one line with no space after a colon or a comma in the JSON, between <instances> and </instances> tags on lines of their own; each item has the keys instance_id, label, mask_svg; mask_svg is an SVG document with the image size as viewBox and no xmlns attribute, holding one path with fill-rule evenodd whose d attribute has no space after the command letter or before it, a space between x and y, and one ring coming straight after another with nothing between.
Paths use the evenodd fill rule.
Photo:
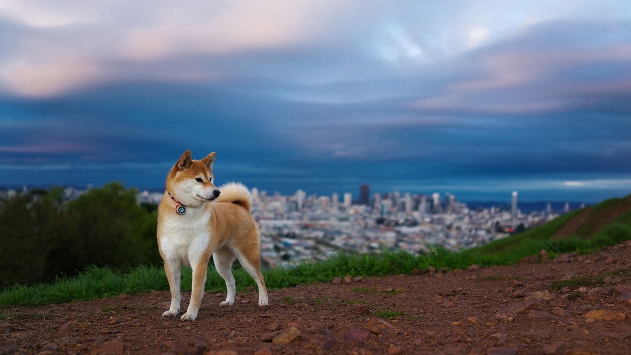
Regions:
<instances>
[{"instance_id":1,"label":"reddish-brown rocky dirt ground under the dog's paws","mask_svg":"<svg viewBox=\"0 0 631 355\"><path fill-rule=\"evenodd\" d=\"M543 253L543 258L546 258ZM590 277L598 275L599 277ZM343 277L344 275L340 275ZM571 286L553 282L586 276ZM187 299L186 294L184 299ZM12 354L630 354L631 242L588 256L206 294L195 322L168 292L0 310ZM183 304L186 309L186 303Z\"/></svg>"}]
</instances>

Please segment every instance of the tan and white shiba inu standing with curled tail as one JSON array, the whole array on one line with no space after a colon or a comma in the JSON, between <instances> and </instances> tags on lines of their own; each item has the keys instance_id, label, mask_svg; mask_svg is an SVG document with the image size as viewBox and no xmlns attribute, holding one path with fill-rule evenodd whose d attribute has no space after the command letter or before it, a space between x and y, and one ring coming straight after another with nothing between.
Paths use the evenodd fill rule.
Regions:
<instances>
[{"instance_id":1,"label":"tan and white shiba inu standing with curled tail","mask_svg":"<svg viewBox=\"0 0 631 355\"><path fill-rule=\"evenodd\" d=\"M191 302L181 320L195 320L206 284L206 270L213 256L217 272L226 281L227 297L220 306L235 302L235 258L259 287L259 306L268 305L268 291L261 275L259 228L252 219L250 192L239 183L220 188L213 184L216 153L191 160L187 150L167 175L164 196L158 207L158 247L164 260L171 306L162 316L180 311L180 267L193 270Z\"/></svg>"}]
</instances>

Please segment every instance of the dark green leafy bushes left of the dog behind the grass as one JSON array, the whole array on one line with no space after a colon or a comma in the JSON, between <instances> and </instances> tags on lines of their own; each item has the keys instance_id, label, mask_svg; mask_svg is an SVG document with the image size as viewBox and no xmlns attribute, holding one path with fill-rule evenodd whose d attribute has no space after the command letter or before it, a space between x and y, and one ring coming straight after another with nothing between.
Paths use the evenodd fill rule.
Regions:
<instances>
[{"instance_id":1,"label":"dark green leafy bushes left of the dog behind the grass","mask_svg":"<svg viewBox=\"0 0 631 355\"><path fill-rule=\"evenodd\" d=\"M0 202L0 285L72 276L88 265L126 270L160 262L156 212L119 183L62 202L62 190Z\"/></svg>"}]
</instances>

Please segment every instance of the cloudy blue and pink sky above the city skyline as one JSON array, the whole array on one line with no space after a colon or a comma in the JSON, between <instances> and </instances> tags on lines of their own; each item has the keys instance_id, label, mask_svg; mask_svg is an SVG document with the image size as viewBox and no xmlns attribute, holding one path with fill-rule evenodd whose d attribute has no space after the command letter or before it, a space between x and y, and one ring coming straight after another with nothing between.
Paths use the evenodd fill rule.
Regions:
<instances>
[{"instance_id":1,"label":"cloudy blue and pink sky above the city skyline","mask_svg":"<svg viewBox=\"0 0 631 355\"><path fill-rule=\"evenodd\" d=\"M631 193L628 1L0 0L0 186Z\"/></svg>"}]
</instances>

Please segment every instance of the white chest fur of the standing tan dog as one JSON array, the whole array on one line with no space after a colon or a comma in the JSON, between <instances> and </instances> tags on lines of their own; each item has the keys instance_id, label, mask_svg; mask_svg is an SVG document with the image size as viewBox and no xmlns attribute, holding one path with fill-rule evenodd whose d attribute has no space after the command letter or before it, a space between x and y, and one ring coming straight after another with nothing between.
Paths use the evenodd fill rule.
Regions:
<instances>
[{"instance_id":1,"label":"white chest fur of the standing tan dog","mask_svg":"<svg viewBox=\"0 0 631 355\"><path fill-rule=\"evenodd\" d=\"M210 209L168 213L160 222L160 250L170 260L195 265L208 246Z\"/></svg>"}]
</instances>

